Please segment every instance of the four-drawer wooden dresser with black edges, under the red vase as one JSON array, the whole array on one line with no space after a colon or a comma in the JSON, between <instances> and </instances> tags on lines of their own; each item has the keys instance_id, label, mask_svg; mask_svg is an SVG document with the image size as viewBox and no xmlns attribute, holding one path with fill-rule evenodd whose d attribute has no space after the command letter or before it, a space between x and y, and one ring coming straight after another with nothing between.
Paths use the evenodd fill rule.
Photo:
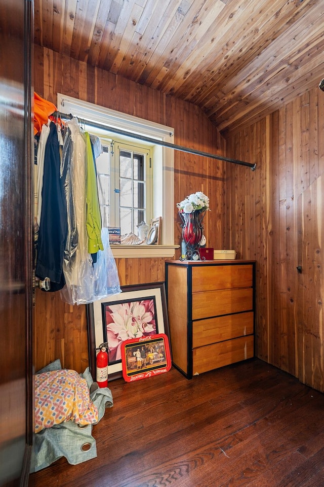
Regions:
<instances>
[{"instance_id":1,"label":"four-drawer wooden dresser with black edges, under the red vase","mask_svg":"<svg viewBox=\"0 0 324 487\"><path fill-rule=\"evenodd\" d=\"M188 379L254 357L254 261L166 261L173 365Z\"/></svg>"}]
</instances>

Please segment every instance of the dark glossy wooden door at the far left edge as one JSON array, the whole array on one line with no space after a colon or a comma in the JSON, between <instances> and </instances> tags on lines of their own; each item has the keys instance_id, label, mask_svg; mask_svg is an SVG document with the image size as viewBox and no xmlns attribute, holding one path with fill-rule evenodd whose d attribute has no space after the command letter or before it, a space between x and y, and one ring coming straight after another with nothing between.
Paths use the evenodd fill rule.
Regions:
<instances>
[{"instance_id":1,"label":"dark glossy wooden door at the far left edge","mask_svg":"<svg viewBox=\"0 0 324 487\"><path fill-rule=\"evenodd\" d=\"M28 483L32 443L32 2L0 2L0 485Z\"/></svg>"}]
</instances>

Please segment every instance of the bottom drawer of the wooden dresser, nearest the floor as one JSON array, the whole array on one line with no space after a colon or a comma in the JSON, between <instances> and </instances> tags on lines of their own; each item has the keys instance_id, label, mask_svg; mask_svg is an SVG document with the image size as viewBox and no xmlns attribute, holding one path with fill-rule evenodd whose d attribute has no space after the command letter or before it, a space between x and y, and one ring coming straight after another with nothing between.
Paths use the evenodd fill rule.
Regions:
<instances>
[{"instance_id":1,"label":"bottom drawer of the wooden dresser, nearest the floor","mask_svg":"<svg viewBox=\"0 0 324 487\"><path fill-rule=\"evenodd\" d=\"M253 335L201 346L192 351L193 374L201 374L254 356Z\"/></svg>"}]
</instances>

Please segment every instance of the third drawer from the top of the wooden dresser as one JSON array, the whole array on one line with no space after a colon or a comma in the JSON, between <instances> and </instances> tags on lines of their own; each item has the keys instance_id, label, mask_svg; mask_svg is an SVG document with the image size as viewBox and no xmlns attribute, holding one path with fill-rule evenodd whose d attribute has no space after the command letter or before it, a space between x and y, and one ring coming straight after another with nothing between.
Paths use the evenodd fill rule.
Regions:
<instances>
[{"instance_id":1,"label":"third drawer from the top of the wooden dresser","mask_svg":"<svg viewBox=\"0 0 324 487\"><path fill-rule=\"evenodd\" d=\"M209 345L253 333L253 311L192 323L192 347Z\"/></svg>"}]
</instances>

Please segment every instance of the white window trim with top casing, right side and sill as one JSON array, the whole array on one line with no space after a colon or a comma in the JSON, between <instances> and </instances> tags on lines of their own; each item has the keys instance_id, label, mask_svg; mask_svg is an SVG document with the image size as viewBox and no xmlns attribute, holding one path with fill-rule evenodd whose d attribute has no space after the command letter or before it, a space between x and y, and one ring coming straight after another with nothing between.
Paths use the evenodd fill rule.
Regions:
<instances>
[{"instance_id":1,"label":"white window trim with top casing, right side and sill","mask_svg":"<svg viewBox=\"0 0 324 487\"><path fill-rule=\"evenodd\" d=\"M61 113L71 113L79 118L107 124L114 128L149 136L170 144L174 143L174 129L166 125L100 107L94 103L78 100L62 93L57 94L57 107ZM162 217L162 245L111 245L115 258L172 258L175 255L175 249L179 247L174 245L174 150L164 146L160 147L163 153L163 165L159 182L161 182L163 196L160 198L159 215L156 217Z\"/></svg>"}]
</instances>

